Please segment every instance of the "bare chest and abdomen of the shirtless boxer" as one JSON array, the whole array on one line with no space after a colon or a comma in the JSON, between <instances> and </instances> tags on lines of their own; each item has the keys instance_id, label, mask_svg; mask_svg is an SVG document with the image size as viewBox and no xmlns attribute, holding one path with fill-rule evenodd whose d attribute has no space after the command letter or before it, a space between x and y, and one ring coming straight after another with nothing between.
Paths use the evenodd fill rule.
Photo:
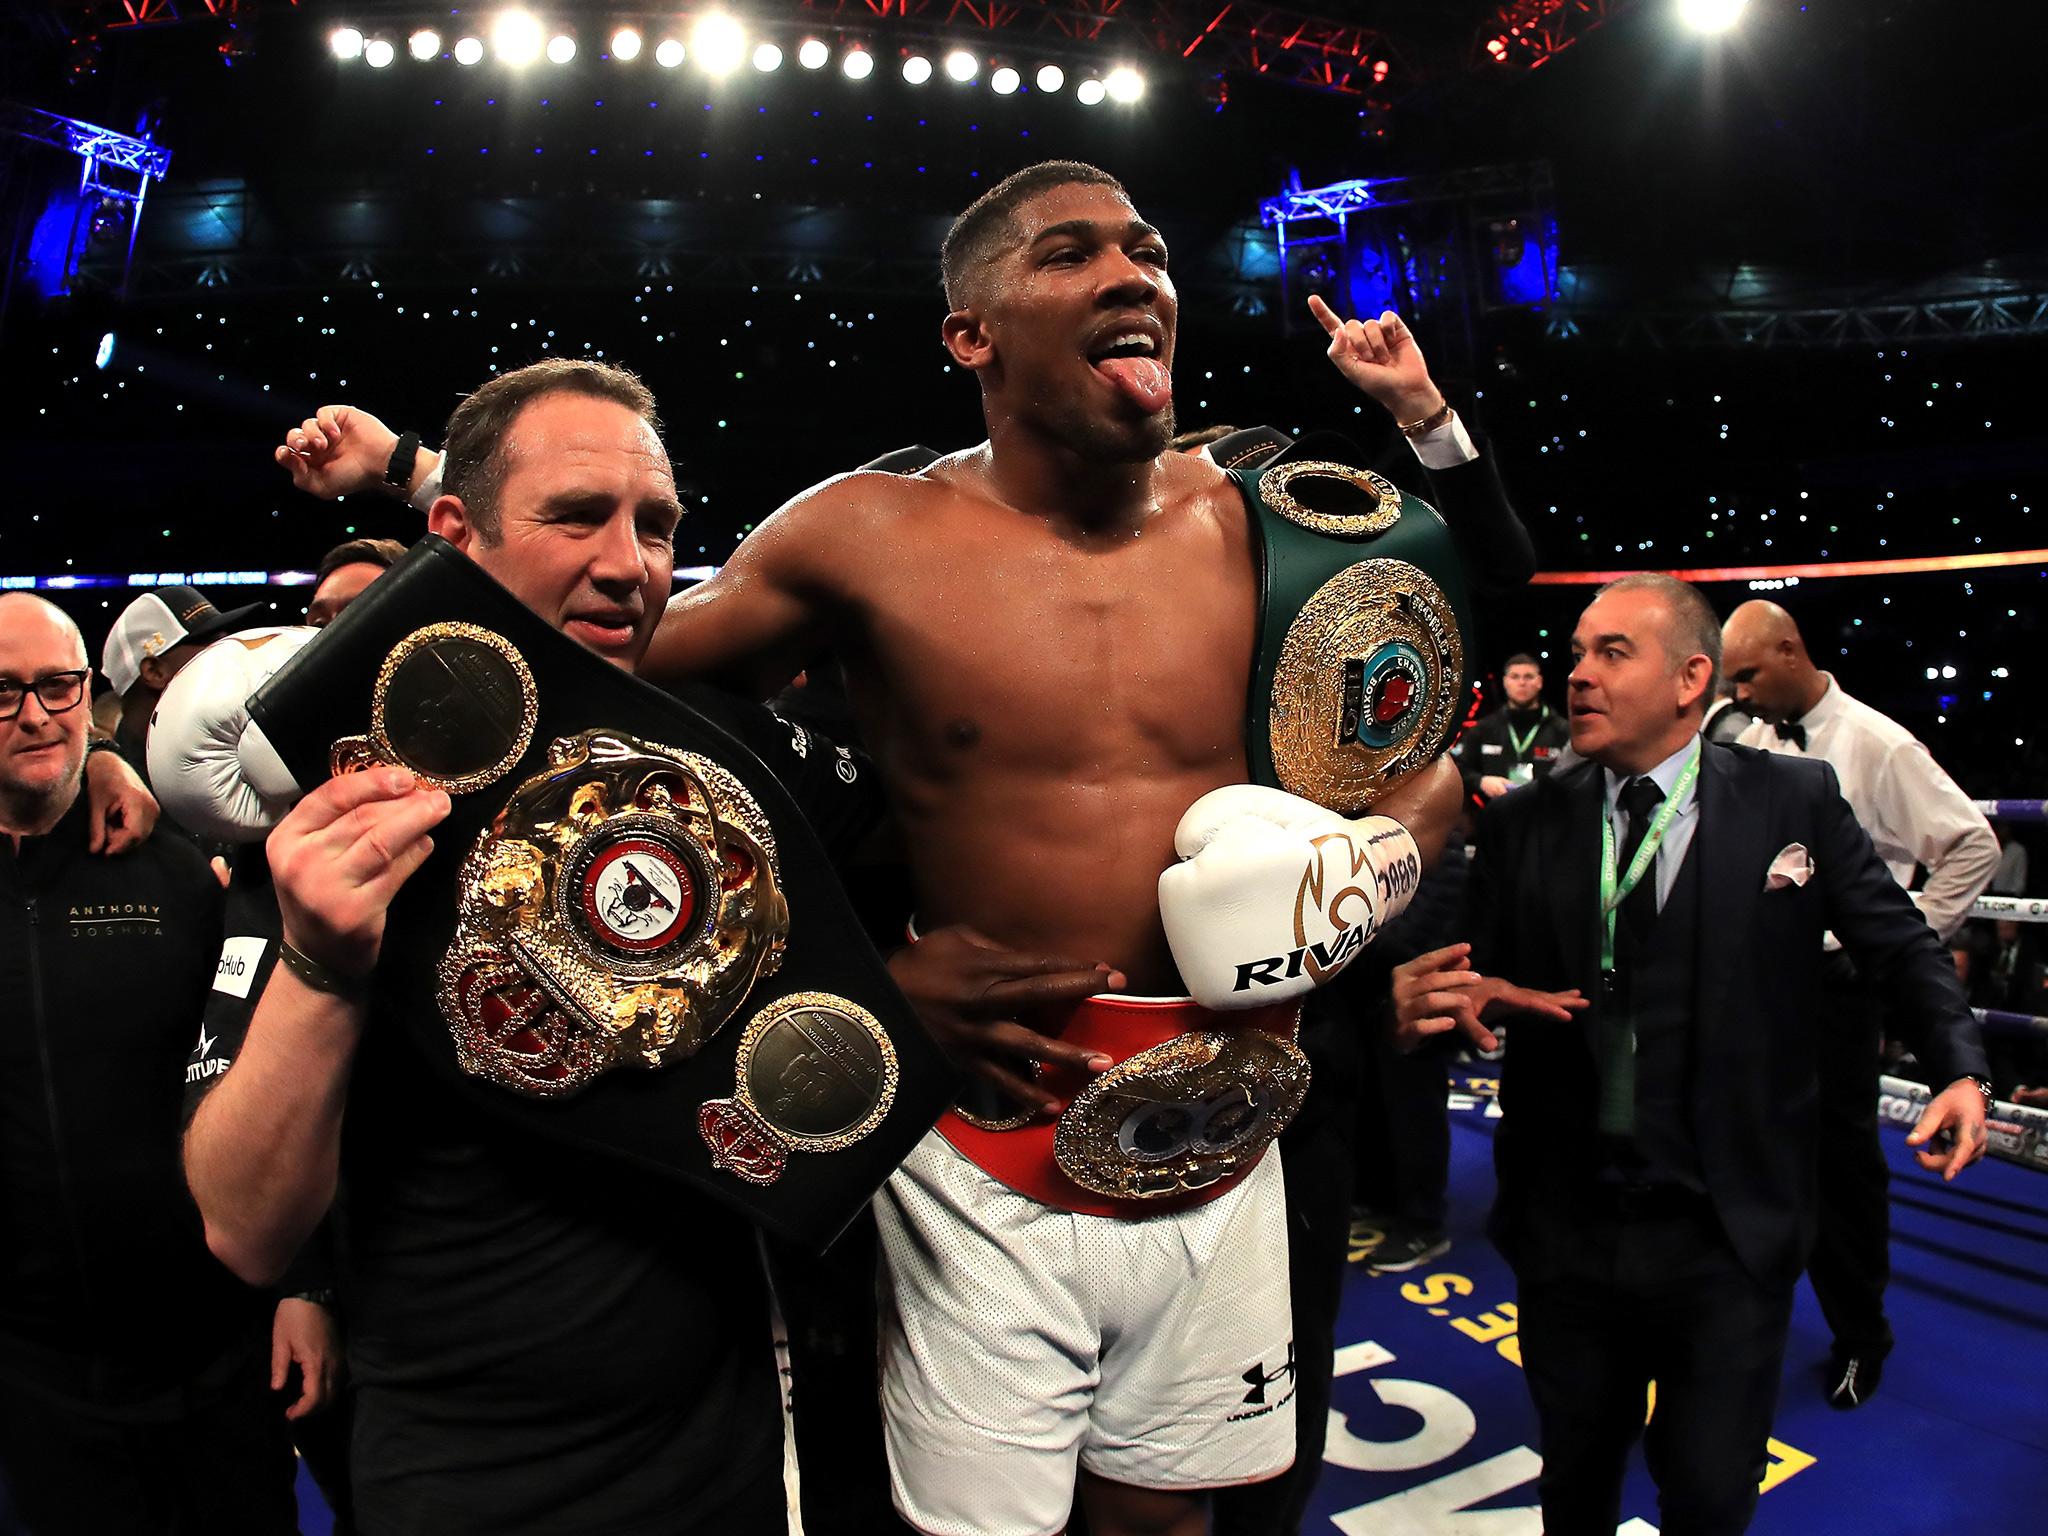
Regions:
<instances>
[{"instance_id":1,"label":"bare chest and abdomen of the shirtless boxer","mask_svg":"<svg viewBox=\"0 0 2048 1536\"><path fill-rule=\"evenodd\" d=\"M1227 512L1229 516L1223 516ZM1106 961L1174 991L1159 872L1182 813L1245 780L1253 580L1241 504L1122 541L934 514L913 580L864 592L856 711L920 920Z\"/></svg>"}]
</instances>

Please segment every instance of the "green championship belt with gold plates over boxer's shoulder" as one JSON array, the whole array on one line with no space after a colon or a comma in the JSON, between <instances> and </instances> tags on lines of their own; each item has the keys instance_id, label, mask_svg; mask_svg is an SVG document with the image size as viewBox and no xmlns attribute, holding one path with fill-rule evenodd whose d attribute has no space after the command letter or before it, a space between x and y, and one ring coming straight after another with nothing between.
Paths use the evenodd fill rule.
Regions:
<instances>
[{"instance_id":1,"label":"green championship belt with gold plates over boxer's shoulder","mask_svg":"<svg viewBox=\"0 0 2048 1536\"><path fill-rule=\"evenodd\" d=\"M1257 551L1251 782L1360 815L1444 752L1464 711L1473 614L1450 528L1327 459L1229 475Z\"/></svg>"}]
</instances>

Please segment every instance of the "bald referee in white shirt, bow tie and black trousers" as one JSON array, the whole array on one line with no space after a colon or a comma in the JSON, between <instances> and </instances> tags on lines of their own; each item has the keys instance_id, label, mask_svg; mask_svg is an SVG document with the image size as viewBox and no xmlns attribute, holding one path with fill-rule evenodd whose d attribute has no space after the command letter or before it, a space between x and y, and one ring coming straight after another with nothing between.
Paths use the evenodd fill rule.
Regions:
<instances>
[{"instance_id":1,"label":"bald referee in white shirt, bow tie and black trousers","mask_svg":"<svg viewBox=\"0 0 2048 1536\"><path fill-rule=\"evenodd\" d=\"M1898 885L1927 870L1913 901L1946 944L1999 866L1991 823L1911 731L1849 698L1812 664L1798 625L1776 602L1745 602L1729 614L1720 655L1737 709L1755 715L1739 745L1831 764ZM1858 979L1833 936L1827 948L1829 1012L1858 1049L1831 1053L1837 1071L1821 1077L1821 1231L1806 1272L1835 1335L1827 1401L1851 1409L1876 1391L1892 1348L1888 1174L1876 1108L1884 999ZM1855 1069L1843 1071L1845 1063Z\"/></svg>"}]
</instances>

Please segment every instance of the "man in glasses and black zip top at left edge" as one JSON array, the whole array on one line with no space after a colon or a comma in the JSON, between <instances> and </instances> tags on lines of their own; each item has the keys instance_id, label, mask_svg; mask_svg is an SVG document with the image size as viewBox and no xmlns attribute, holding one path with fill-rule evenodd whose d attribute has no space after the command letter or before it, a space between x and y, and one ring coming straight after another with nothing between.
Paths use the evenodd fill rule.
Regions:
<instances>
[{"instance_id":1,"label":"man in glasses and black zip top at left edge","mask_svg":"<svg viewBox=\"0 0 2048 1536\"><path fill-rule=\"evenodd\" d=\"M0 1483L39 1536L291 1532L270 1305L178 1167L221 889L178 838L90 856L90 676L0 596Z\"/></svg>"}]
</instances>

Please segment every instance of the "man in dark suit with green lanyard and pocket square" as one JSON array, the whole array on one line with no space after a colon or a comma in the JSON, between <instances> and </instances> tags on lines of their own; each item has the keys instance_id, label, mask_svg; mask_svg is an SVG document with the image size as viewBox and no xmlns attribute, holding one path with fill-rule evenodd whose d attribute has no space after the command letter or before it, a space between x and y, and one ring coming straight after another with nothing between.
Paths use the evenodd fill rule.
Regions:
<instances>
[{"instance_id":1,"label":"man in dark suit with green lanyard and pocket square","mask_svg":"<svg viewBox=\"0 0 2048 1536\"><path fill-rule=\"evenodd\" d=\"M1520 1290L1548 1536L1614 1532L1638 1434L1667 1536L1749 1526L1815 1233L1817 1063L1849 1049L1821 1028L1823 930L1944 1085L1911 1133L1921 1165L1954 1178L1985 1149L1954 965L1827 764L1700 739L1718 651L1683 582L1602 588L1573 635L1587 762L1487 809L1468 963L1454 946L1395 975L1411 1038L1491 1040L1483 1020L1516 1016L1491 1233Z\"/></svg>"}]
</instances>

